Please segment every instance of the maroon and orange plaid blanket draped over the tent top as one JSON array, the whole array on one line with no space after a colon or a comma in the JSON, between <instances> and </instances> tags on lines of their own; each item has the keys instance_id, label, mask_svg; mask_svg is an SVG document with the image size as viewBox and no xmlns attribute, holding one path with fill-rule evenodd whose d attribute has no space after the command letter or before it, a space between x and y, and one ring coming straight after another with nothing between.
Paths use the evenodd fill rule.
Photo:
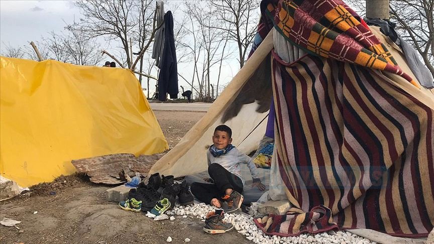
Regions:
<instances>
[{"instance_id":1,"label":"maroon and orange plaid blanket draped over the tent top","mask_svg":"<svg viewBox=\"0 0 434 244\"><path fill-rule=\"evenodd\" d=\"M266 0L261 7L282 36L310 54L396 73L419 86L341 0Z\"/></svg>"}]
</instances>

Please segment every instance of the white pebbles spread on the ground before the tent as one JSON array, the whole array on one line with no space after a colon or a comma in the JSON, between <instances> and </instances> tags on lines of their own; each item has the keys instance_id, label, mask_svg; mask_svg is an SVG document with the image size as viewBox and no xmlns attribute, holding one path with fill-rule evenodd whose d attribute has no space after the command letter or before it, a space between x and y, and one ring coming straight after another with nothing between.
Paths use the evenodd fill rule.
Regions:
<instances>
[{"instance_id":1,"label":"white pebbles spread on the ground before the tent","mask_svg":"<svg viewBox=\"0 0 434 244\"><path fill-rule=\"evenodd\" d=\"M180 215L184 218L187 216L195 217L205 221L206 214L216 209L205 203L192 204L188 206L176 205L173 209L166 212L167 215ZM266 235L253 222L253 217L244 213L225 213L225 220L231 222L234 228L247 239L254 243L260 244L278 244L278 243L336 243L336 244L374 244L376 242L363 238L347 231L329 231L318 234L300 234L299 236L281 237L277 235Z\"/></svg>"}]
</instances>

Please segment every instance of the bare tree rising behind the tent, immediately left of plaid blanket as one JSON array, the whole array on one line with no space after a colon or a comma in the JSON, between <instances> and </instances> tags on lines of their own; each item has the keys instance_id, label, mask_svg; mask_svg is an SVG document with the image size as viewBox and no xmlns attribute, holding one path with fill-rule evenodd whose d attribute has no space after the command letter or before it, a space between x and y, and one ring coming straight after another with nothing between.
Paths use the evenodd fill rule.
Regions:
<instances>
[{"instance_id":1,"label":"bare tree rising behind the tent, immediately left of plaid blanket","mask_svg":"<svg viewBox=\"0 0 434 244\"><path fill-rule=\"evenodd\" d=\"M240 68L256 34L260 1L256 0L213 0L209 2L214 20L209 28L220 29L229 34L229 40L238 46Z\"/></svg>"}]
</instances>

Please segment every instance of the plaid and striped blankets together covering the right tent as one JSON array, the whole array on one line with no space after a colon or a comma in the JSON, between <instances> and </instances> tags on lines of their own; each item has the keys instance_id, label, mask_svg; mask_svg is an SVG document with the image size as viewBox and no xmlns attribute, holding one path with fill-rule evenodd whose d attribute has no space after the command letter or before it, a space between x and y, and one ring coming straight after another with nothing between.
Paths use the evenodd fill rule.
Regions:
<instances>
[{"instance_id":1,"label":"plaid and striped blankets together covering the right tent","mask_svg":"<svg viewBox=\"0 0 434 244\"><path fill-rule=\"evenodd\" d=\"M275 28L308 54L286 63L272 51L273 160L293 208L257 225L282 236L337 228L427 236L434 106L381 71L417 82L342 1L263 1L261 9L256 41Z\"/></svg>"}]
</instances>

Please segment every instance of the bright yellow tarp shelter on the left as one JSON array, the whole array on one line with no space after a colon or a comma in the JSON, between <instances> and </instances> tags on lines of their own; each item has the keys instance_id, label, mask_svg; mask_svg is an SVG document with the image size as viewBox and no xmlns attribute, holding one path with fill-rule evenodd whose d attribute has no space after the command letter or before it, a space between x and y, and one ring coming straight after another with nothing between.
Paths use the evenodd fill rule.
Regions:
<instances>
[{"instance_id":1,"label":"bright yellow tarp shelter on the left","mask_svg":"<svg viewBox=\"0 0 434 244\"><path fill-rule=\"evenodd\" d=\"M0 57L0 173L26 187L75 172L73 159L168 149L126 69Z\"/></svg>"}]
</instances>

